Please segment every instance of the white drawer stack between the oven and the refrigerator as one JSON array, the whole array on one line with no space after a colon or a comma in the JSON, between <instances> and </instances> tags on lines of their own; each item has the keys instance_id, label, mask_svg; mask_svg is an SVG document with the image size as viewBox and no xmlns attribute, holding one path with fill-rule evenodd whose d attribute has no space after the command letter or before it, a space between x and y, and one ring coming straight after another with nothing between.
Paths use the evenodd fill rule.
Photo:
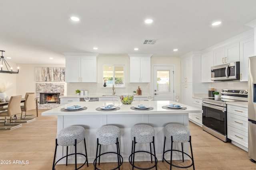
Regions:
<instances>
[{"instance_id":1,"label":"white drawer stack between the oven and the refrigerator","mask_svg":"<svg viewBox=\"0 0 256 170\"><path fill-rule=\"evenodd\" d=\"M248 108L227 106L228 139L248 151Z\"/></svg>"}]
</instances>

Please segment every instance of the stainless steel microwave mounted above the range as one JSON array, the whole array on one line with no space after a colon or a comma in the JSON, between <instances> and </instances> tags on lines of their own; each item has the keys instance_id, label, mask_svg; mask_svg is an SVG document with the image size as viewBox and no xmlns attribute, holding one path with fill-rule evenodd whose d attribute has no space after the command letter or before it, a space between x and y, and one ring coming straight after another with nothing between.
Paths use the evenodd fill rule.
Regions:
<instances>
[{"instance_id":1,"label":"stainless steel microwave mounted above the range","mask_svg":"<svg viewBox=\"0 0 256 170\"><path fill-rule=\"evenodd\" d=\"M233 62L211 67L211 80L239 80L240 62Z\"/></svg>"}]
</instances>

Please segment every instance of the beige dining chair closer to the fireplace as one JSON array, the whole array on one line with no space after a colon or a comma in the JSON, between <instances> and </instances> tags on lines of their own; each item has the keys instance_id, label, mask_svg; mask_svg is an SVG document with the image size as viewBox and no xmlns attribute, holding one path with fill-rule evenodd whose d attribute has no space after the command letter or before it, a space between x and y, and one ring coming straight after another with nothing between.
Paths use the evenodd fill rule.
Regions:
<instances>
[{"instance_id":1,"label":"beige dining chair closer to the fireplace","mask_svg":"<svg viewBox=\"0 0 256 170\"><path fill-rule=\"evenodd\" d=\"M36 109L36 107L35 107L35 98L36 98L35 93L26 93L25 94L25 102L24 102L24 106L21 106L20 119L29 119L29 117L34 116L34 115L27 115L26 113L27 113L27 111ZM23 111L25 111L24 118L22 118Z\"/></svg>"}]
</instances>

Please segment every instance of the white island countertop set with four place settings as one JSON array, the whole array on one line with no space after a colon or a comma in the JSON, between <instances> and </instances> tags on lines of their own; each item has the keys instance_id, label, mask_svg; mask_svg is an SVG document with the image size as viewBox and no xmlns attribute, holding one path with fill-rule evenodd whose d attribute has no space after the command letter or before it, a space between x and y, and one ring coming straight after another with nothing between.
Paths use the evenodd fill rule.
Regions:
<instances>
[{"instance_id":1,"label":"white island countertop set with four place settings","mask_svg":"<svg viewBox=\"0 0 256 170\"><path fill-rule=\"evenodd\" d=\"M149 105L148 101L133 101L132 104L123 104L120 110L116 111L97 111L97 107L106 106L109 104L114 104L114 106L118 106L117 101L110 102L88 102L88 108L80 111L60 111L61 108L69 107L73 105L86 106L86 102L72 102L60 107L56 107L54 109L50 109L48 111L42 112L42 115L118 115L118 114L170 114L170 113L202 113L201 109L196 107L186 106L180 103L176 103L173 101L151 101L150 106L153 106L153 110L132 110L130 107L138 106L143 104L145 106ZM120 102L120 104L122 104ZM169 104L179 104L182 107L187 107L185 110L179 109L163 109L162 106L166 106Z\"/></svg>"}]
</instances>

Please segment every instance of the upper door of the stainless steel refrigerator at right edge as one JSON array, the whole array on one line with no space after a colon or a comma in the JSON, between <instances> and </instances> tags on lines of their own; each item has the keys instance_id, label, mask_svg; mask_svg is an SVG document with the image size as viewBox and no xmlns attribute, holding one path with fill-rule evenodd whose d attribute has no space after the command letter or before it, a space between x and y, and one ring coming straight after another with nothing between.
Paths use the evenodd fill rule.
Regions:
<instances>
[{"instance_id":1,"label":"upper door of the stainless steel refrigerator at right edge","mask_svg":"<svg viewBox=\"0 0 256 170\"><path fill-rule=\"evenodd\" d=\"M249 57L248 119L256 121L256 56Z\"/></svg>"}]
</instances>

